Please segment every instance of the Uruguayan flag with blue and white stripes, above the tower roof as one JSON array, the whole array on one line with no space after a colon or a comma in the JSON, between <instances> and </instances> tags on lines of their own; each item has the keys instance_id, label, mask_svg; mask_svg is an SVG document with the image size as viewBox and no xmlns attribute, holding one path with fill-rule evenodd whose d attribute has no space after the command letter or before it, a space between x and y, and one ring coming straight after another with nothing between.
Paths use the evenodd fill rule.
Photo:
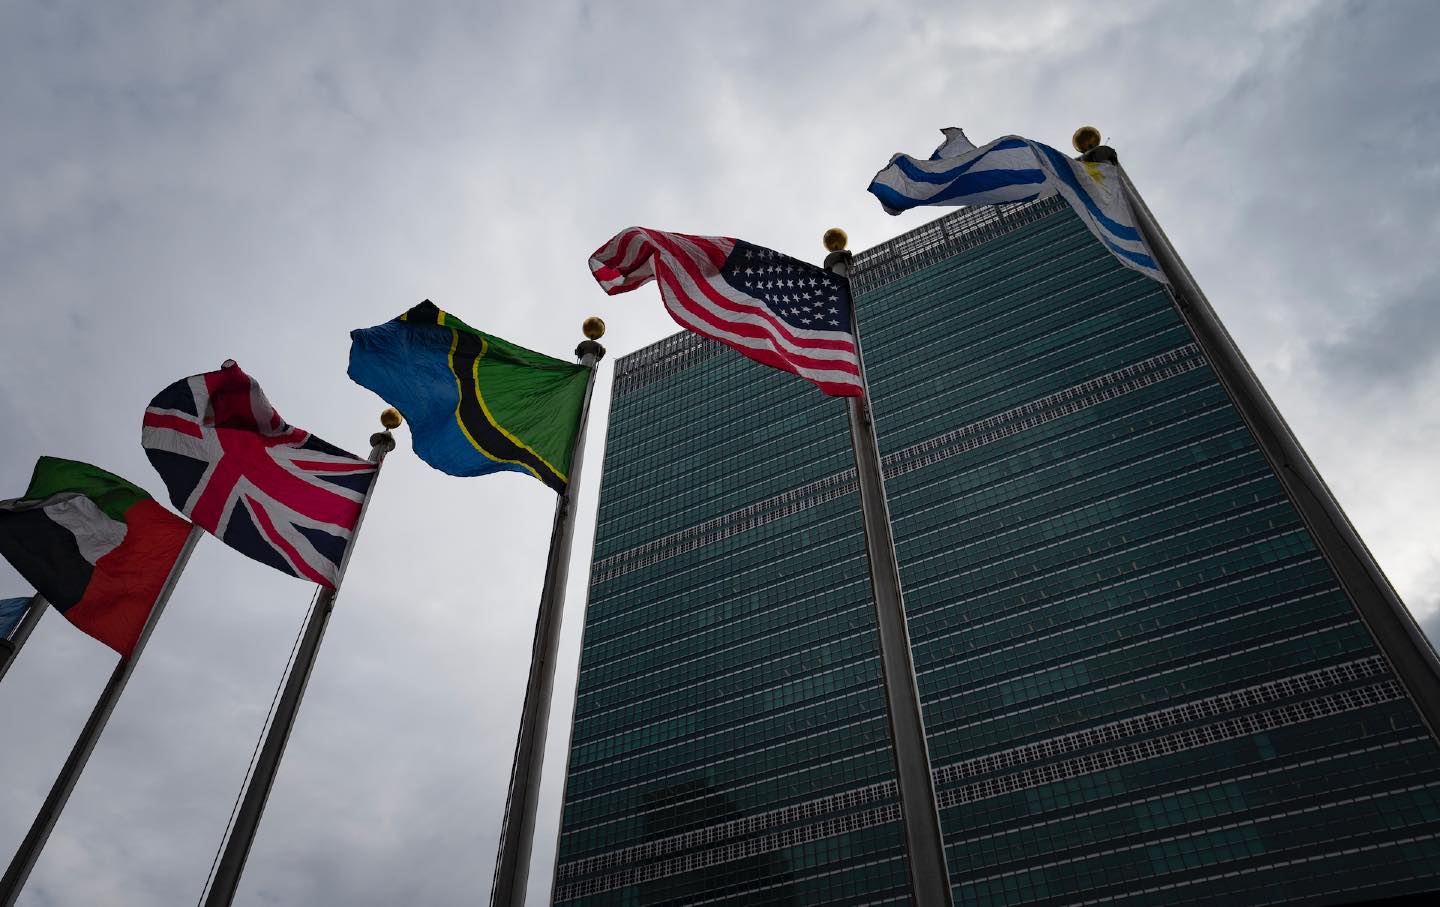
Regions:
<instances>
[{"instance_id":1,"label":"Uruguayan flag with blue and white stripes, above the tower roof","mask_svg":"<svg viewBox=\"0 0 1440 907\"><path fill-rule=\"evenodd\" d=\"M963 131L942 131L945 143L929 160L896 154L870 181L870 191L886 212L899 215L922 204L1032 202L1060 193L1122 265L1168 282L1135 229L1115 164L1076 161L1020 135L976 148Z\"/></svg>"}]
</instances>

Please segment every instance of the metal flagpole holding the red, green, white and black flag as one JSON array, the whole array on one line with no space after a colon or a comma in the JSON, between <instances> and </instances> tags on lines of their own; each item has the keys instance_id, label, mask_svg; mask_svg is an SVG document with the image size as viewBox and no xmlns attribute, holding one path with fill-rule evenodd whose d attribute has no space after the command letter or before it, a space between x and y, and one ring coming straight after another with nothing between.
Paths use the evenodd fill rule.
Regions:
<instances>
[{"instance_id":1,"label":"metal flagpole holding the red, green, white and black flag","mask_svg":"<svg viewBox=\"0 0 1440 907\"><path fill-rule=\"evenodd\" d=\"M99 740L101 731L105 730L109 714L115 711L115 703L120 701L120 694L125 691L125 682L130 681L130 675L135 669L135 662L140 661L140 654L144 651L150 633L156 629L156 622L160 621L160 613L166 609L166 602L170 600L170 593L174 592L176 583L180 580L180 573L184 570L186 561L190 560L190 551L194 550L194 543L200 540L202 531L199 525L190 527L190 534L186 536L184 546L181 546L176 563L170 567L170 574L166 577L164 586L160 587L156 603L150 608L150 616L145 618L140 638L135 639L135 648L131 649L128 658L121 658L120 664L111 672L109 682L105 684L105 690L99 694L89 720L85 721L81 736L75 740L75 746L71 747L71 754L60 767L60 775L55 779L55 785L50 786L49 796L45 798L40 812L36 813L35 822L30 823L30 831L26 832L24 841L20 842L19 849L16 849L14 857L10 859L10 867L6 870L4 878L0 878L0 907L13 907L16 898L20 897L20 890L24 888L24 881L30 877L30 870L35 868L36 859L40 858L40 851L45 849L45 842L49 839L55 822L60 818L60 811L65 809L65 802L69 799L71 790L75 789L75 782L79 780L81 772L85 770L85 763L95 750L95 743ZM39 612L43 599L40 596L36 596L36 599L32 610ZM37 619L39 616L36 616Z\"/></svg>"}]
</instances>

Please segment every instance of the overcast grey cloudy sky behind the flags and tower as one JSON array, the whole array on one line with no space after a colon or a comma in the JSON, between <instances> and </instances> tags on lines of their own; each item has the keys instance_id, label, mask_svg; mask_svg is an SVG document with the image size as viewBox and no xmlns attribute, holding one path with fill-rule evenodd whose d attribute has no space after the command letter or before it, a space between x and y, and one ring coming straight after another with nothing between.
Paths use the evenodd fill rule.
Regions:
<instances>
[{"instance_id":1,"label":"overcast grey cloudy sky behind the flags and tower","mask_svg":"<svg viewBox=\"0 0 1440 907\"><path fill-rule=\"evenodd\" d=\"M893 151L1093 122L1434 635L1437 33L1398 0L0 0L0 497L52 454L163 500L144 405L226 357L363 454L382 403L346 379L350 328L428 297L567 356L602 314L543 903L609 364L675 330L654 291L605 298L589 252L632 223L864 249L930 217L864 193ZM240 904L487 897L553 495L399 441ZM199 898L311 589L202 540L22 904ZM6 678L0 858L112 665L52 613Z\"/></svg>"}]
</instances>

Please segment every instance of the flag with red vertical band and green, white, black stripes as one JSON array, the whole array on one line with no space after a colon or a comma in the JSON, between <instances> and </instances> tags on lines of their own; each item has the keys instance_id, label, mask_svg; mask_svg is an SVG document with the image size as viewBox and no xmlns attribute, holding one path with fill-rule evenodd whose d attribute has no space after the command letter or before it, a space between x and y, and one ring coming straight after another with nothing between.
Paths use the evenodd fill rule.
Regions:
<instances>
[{"instance_id":1,"label":"flag with red vertical band and green, white, black stripes","mask_svg":"<svg viewBox=\"0 0 1440 907\"><path fill-rule=\"evenodd\" d=\"M42 456L24 497L0 501L0 554L127 658L189 533L140 487L72 459Z\"/></svg>"}]
</instances>

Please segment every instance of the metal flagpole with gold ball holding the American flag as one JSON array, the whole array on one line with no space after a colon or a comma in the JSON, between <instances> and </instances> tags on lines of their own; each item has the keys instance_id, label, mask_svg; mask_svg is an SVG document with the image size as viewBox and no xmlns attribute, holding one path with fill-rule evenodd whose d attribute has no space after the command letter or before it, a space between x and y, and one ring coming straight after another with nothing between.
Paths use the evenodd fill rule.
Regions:
<instances>
[{"instance_id":1,"label":"metal flagpole with gold ball holding the American flag","mask_svg":"<svg viewBox=\"0 0 1440 907\"><path fill-rule=\"evenodd\" d=\"M845 251L845 232L825 232L825 269L850 279L851 255ZM886 691L886 718L896 759L900 790L900 815L904 822L910 897L917 907L949 907L950 878L945 865L945 839L940 812L930 775L930 752L924 740L924 716L910 655L910 631L906 625L904 593L900 587L900 561L890 528L890 505L880 462L880 443L870 410L870 384L865 382L864 354L860 348L860 317L851 294L851 328L855 334L855 358L864 393L850 397L850 439L855 449L855 477L860 481L860 510L865 528L865 553L870 559L870 587L876 599L876 626L880 635L880 680Z\"/></svg>"}]
</instances>

